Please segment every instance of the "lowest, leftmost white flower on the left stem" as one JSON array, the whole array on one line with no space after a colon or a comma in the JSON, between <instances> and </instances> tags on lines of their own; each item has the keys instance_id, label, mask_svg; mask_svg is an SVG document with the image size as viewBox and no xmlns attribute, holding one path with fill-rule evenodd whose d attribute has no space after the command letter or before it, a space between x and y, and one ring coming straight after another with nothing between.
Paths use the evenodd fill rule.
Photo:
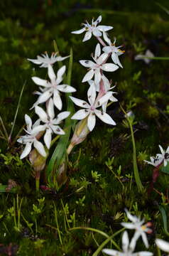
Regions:
<instances>
[{"instance_id":1,"label":"lowest, leftmost white flower on the left stem","mask_svg":"<svg viewBox=\"0 0 169 256\"><path fill-rule=\"evenodd\" d=\"M41 142L38 142L38 139L36 139L36 136L39 134L39 132L44 131L43 125L39 125L39 121L35 122L35 124L32 125L31 117L28 116L28 114L25 114L25 120L26 120L26 132L27 135L22 136L17 140L17 142L21 144L26 144L25 149L23 150L20 159L23 159L24 157L28 156L28 154L31 152L32 144L37 149L39 154L42 156L46 156L44 146Z\"/></svg>"}]
</instances>

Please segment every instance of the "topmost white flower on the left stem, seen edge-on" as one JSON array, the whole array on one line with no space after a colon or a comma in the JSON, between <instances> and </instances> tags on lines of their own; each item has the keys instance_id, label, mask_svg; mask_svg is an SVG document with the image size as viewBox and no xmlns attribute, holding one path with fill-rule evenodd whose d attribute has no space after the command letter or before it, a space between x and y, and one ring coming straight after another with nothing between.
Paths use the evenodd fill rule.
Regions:
<instances>
[{"instance_id":1,"label":"topmost white flower on the left stem, seen edge-on","mask_svg":"<svg viewBox=\"0 0 169 256\"><path fill-rule=\"evenodd\" d=\"M57 53L52 53L51 57L48 56L48 53L41 54L42 56L38 55L37 59L27 59L31 62L40 65L40 68L48 68L48 64L53 65L56 61L62 61L66 58L69 58L70 56L61 57L57 56Z\"/></svg>"}]
</instances>

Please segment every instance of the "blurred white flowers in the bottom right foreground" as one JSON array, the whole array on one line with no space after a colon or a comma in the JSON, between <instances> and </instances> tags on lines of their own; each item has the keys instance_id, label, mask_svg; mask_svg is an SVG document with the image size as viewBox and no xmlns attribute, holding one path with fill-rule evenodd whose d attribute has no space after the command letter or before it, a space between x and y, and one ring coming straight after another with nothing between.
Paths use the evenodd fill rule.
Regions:
<instances>
[{"instance_id":1,"label":"blurred white flowers in the bottom right foreground","mask_svg":"<svg viewBox=\"0 0 169 256\"><path fill-rule=\"evenodd\" d=\"M152 230L150 228L151 223L148 222L146 224L143 224L144 220L141 220L135 215L131 215L131 213L129 213L128 210L126 210L126 215L129 218L129 220L131 220L131 223L121 223L121 225L123 225L124 228L135 230L135 233L133 235L133 238L131 239L131 242L129 242L128 233L124 231L124 234L122 236L123 252L118 252L116 250L111 250L111 249L104 249L103 252L105 252L107 255L114 255L114 256L116 255L119 255L119 256L129 256L129 255L130 256L136 256L136 255L151 256L153 255L152 252L147 252L147 251L133 252L136 247L136 242L140 237L142 238L146 248L148 248L148 240L147 240L146 233L152 233Z\"/></svg>"}]
</instances>

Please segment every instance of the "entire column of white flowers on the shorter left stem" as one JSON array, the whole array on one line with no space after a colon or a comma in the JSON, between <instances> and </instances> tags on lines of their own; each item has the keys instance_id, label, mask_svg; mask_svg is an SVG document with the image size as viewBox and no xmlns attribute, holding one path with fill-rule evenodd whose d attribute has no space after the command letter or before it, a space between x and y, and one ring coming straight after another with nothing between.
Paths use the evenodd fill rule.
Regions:
<instances>
[{"instance_id":1,"label":"entire column of white flowers on the shorter left stem","mask_svg":"<svg viewBox=\"0 0 169 256\"><path fill-rule=\"evenodd\" d=\"M47 149L50 149L50 144L52 140L52 134L65 134L65 132L60 128L58 124L62 122L63 119L67 118L70 115L70 112L60 112L57 117L55 117L56 107L58 110L62 110L62 100L60 97L60 92L75 92L75 88L70 85L65 85L60 83L63 80L66 67L62 66L58 70L57 75L53 70L53 64L57 61L64 60L67 57L57 56L57 53L53 53L49 58L48 53L45 53L41 56L38 55L37 59L28 59L33 63L40 65L41 68L48 68L48 77L50 80L44 80L38 77L33 77L33 82L36 85L39 85L39 92L36 92L38 95L38 100L34 103L35 112L38 114L39 119L32 124L31 117L28 114L25 115L26 120L26 135L20 137L18 142L21 144L26 144L25 149L23 150L20 158L28 156L31 152L31 146L33 145L38 153L42 156L46 156L45 147L42 142L39 142L40 137L43 136L45 146ZM42 107L39 107L41 103L46 105L46 112ZM32 108L33 108L32 107Z\"/></svg>"}]
</instances>

